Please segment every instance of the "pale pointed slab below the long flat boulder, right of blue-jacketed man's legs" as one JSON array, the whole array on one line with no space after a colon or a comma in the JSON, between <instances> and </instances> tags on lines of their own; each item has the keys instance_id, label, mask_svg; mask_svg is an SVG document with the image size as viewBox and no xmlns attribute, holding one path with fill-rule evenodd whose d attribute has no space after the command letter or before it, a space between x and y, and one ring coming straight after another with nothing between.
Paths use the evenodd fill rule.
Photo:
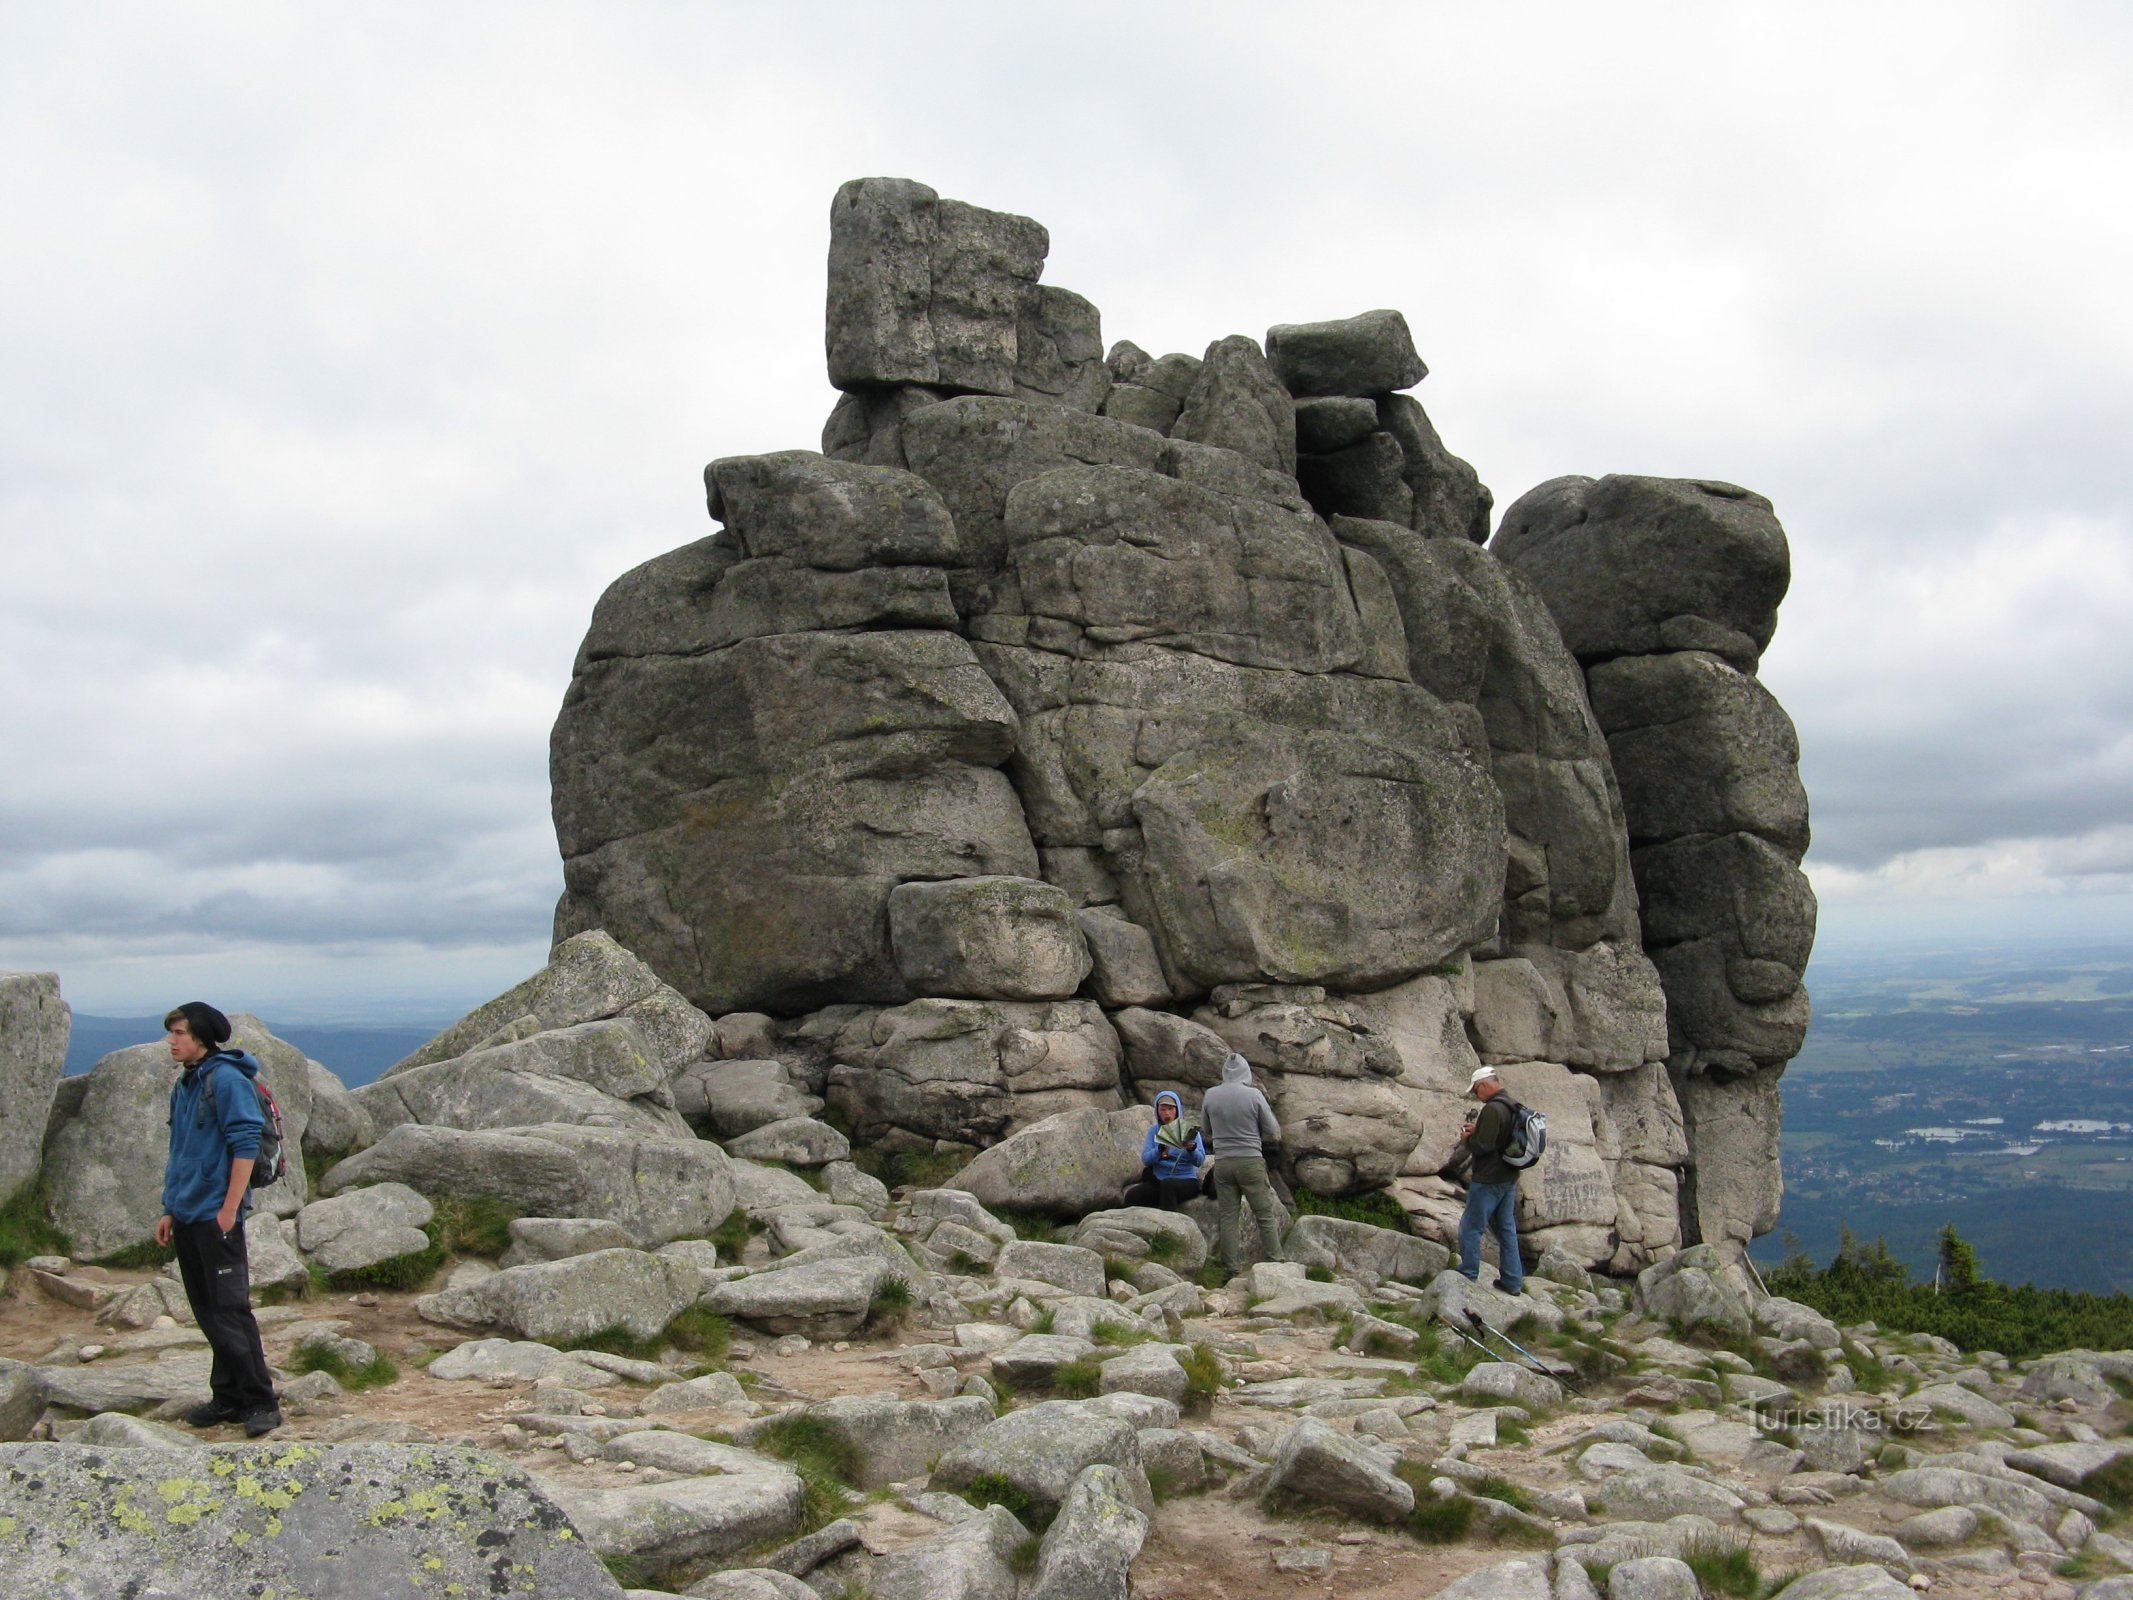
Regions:
<instances>
[{"instance_id":1,"label":"pale pointed slab below the long flat boulder, right of blue-jacketed man's legs","mask_svg":"<svg viewBox=\"0 0 2133 1600\"><path fill-rule=\"evenodd\" d=\"M527 1340L584 1340L610 1327L659 1338L687 1310L702 1278L680 1257L644 1250L595 1250L567 1261L506 1267L467 1289L416 1301L431 1323L499 1327Z\"/></svg>"}]
</instances>

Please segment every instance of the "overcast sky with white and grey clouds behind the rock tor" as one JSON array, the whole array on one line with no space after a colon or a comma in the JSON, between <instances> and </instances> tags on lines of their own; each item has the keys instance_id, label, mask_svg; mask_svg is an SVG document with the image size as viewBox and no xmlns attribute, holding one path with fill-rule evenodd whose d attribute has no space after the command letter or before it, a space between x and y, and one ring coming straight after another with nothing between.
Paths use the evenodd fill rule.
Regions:
<instances>
[{"instance_id":1,"label":"overcast sky with white and grey clouds behind the rock tor","mask_svg":"<svg viewBox=\"0 0 2133 1600\"><path fill-rule=\"evenodd\" d=\"M1828 947L2133 928L2122 6L0 4L0 966L450 1015L710 457L815 448L828 207L1105 337L1401 307L1497 508L1728 478Z\"/></svg>"}]
</instances>

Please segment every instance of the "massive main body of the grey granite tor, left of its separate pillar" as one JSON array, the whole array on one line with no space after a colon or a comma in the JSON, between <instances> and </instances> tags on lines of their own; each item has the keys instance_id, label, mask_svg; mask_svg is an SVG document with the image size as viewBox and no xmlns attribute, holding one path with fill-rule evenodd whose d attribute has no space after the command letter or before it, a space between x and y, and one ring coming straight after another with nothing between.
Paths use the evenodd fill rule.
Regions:
<instances>
[{"instance_id":1,"label":"massive main body of the grey granite tor, left of its separate pillar","mask_svg":"<svg viewBox=\"0 0 2133 1600\"><path fill-rule=\"evenodd\" d=\"M1442 1229L1468 1073L1546 1105L1536 1248L1681 1237L1608 730L1397 311L1103 354L1045 230L832 207L823 454L602 597L557 934L606 928L862 1143L977 1152L1258 1069L1286 1175ZM717 1052L712 1052L717 1054Z\"/></svg>"}]
</instances>

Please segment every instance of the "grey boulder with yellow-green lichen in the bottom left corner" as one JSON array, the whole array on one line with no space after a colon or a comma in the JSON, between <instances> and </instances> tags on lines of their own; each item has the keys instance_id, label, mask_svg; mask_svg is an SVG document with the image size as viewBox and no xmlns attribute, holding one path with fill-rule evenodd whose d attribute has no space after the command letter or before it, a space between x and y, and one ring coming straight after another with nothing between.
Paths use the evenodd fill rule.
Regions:
<instances>
[{"instance_id":1,"label":"grey boulder with yellow-green lichen in the bottom left corner","mask_svg":"<svg viewBox=\"0 0 2133 1600\"><path fill-rule=\"evenodd\" d=\"M621 1600L584 1523L518 1468L435 1444L0 1446L0 1591L119 1600L147 1574L186 1594L431 1594ZM798 1517L798 1478L793 1508ZM572 1523L578 1523L576 1527ZM194 1581L211 1574L209 1589Z\"/></svg>"}]
</instances>

